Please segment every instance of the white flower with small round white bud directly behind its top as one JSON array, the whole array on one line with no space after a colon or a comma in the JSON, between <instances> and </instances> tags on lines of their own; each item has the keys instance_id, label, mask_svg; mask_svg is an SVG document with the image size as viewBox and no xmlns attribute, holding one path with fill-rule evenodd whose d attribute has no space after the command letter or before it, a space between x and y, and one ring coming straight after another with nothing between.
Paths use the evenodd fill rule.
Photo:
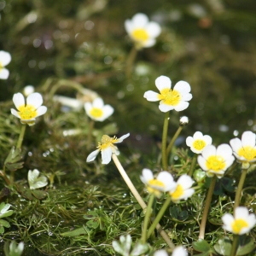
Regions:
<instances>
[{"instance_id":1,"label":"white flower with small round white bud directly behind its top","mask_svg":"<svg viewBox=\"0 0 256 256\"><path fill-rule=\"evenodd\" d=\"M19 112L11 108L11 113L19 118L22 124L34 125L36 118L47 111L45 106L41 106L43 104L43 98L38 92L27 96L26 103L24 96L20 92L15 93L13 102Z\"/></svg>"}]
</instances>

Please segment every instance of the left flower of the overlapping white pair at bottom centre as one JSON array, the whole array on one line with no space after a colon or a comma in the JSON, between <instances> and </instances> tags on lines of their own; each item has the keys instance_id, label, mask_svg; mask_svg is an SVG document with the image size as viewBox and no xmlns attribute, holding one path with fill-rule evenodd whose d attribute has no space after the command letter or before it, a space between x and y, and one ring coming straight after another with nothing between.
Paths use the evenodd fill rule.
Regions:
<instances>
[{"instance_id":1,"label":"left flower of the overlapping white pair at bottom centre","mask_svg":"<svg viewBox=\"0 0 256 256\"><path fill-rule=\"evenodd\" d=\"M150 194L160 197L162 192L169 191L175 187L173 177L169 172L163 171L154 178L153 172L149 169L143 169L141 181L146 185Z\"/></svg>"}]
</instances>

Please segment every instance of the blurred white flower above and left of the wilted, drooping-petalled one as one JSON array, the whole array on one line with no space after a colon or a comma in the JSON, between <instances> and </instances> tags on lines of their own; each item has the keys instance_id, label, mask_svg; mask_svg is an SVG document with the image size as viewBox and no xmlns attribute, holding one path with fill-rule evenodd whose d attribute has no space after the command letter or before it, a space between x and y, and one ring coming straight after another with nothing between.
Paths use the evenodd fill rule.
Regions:
<instances>
[{"instance_id":1,"label":"blurred white flower above and left of the wilted, drooping-petalled one","mask_svg":"<svg viewBox=\"0 0 256 256\"><path fill-rule=\"evenodd\" d=\"M104 105L102 98L96 98L92 103L84 103L84 109L91 119L101 122L113 113L113 108L110 105Z\"/></svg>"}]
</instances>

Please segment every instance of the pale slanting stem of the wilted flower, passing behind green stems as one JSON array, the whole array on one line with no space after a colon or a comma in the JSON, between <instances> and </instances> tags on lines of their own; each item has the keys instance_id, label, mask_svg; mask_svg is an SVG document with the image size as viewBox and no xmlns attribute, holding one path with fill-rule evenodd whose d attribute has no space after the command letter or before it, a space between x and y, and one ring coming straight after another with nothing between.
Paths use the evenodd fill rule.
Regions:
<instances>
[{"instance_id":1,"label":"pale slanting stem of the wilted flower, passing behind green stems","mask_svg":"<svg viewBox=\"0 0 256 256\"><path fill-rule=\"evenodd\" d=\"M115 164L115 166L118 168L121 176L124 178L126 185L128 186L128 188L131 190L132 195L134 195L134 197L136 198L137 202L139 203L139 205L143 208L143 210L145 208L147 208L147 205L145 204L145 202L143 201L141 195L138 194L137 189L134 187L133 183L131 182L130 177L128 177L127 173L125 172L125 169L123 168L123 166L121 165L121 163L119 162L119 159L117 157L116 154L112 154L112 159L113 162ZM156 229L158 230L158 232L160 233L160 236L163 237L163 239L166 241L166 244L170 247L170 248L174 248L175 245L173 244L173 242L170 240L169 236L166 234L166 231L162 229L162 227L160 226L160 224L157 224Z\"/></svg>"}]
</instances>

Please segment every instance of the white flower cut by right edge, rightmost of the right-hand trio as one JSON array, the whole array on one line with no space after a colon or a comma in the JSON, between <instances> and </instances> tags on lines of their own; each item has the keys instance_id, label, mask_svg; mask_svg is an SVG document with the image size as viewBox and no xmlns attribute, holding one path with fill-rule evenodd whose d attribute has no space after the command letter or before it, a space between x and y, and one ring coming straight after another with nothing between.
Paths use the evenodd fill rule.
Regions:
<instances>
[{"instance_id":1,"label":"white flower cut by right edge, rightmost of the right-hand trio","mask_svg":"<svg viewBox=\"0 0 256 256\"><path fill-rule=\"evenodd\" d=\"M236 159L242 163L242 168L247 169L250 163L256 161L256 135L252 131L245 131L239 138L230 140L230 145Z\"/></svg>"}]
</instances>

